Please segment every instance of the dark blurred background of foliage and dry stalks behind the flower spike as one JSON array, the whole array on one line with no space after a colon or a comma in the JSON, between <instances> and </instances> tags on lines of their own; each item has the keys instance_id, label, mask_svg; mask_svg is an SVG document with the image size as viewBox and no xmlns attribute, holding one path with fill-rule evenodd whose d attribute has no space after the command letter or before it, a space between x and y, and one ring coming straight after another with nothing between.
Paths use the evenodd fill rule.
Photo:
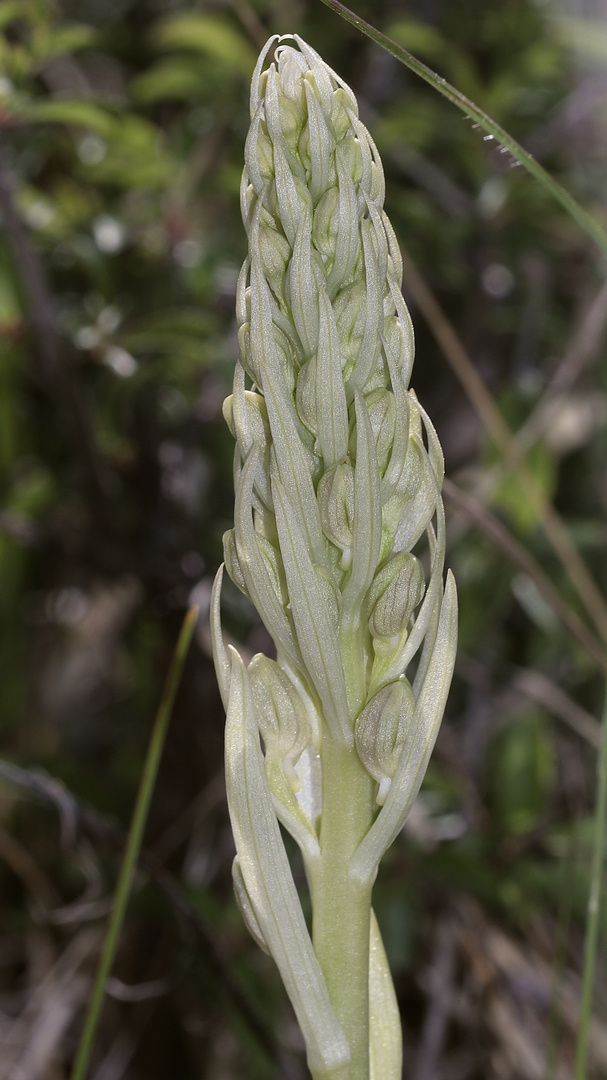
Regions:
<instances>
[{"instance_id":1,"label":"dark blurred background of foliage and dry stalks behind the flower spike","mask_svg":"<svg viewBox=\"0 0 607 1080\"><path fill-rule=\"evenodd\" d=\"M602 0L356 11L607 225ZM90 1076L307 1076L232 899L205 622L232 521L220 409L248 80L276 31L352 85L378 144L413 383L447 465L460 656L376 889L405 1072L567 1080L607 639L605 266L509 153L320 0L0 3L0 1076L69 1076L192 602ZM235 590L225 618L243 649L267 647ZM607 1076L605 961L603 945L592 1078Z\"/></svg>"}]
</instances>

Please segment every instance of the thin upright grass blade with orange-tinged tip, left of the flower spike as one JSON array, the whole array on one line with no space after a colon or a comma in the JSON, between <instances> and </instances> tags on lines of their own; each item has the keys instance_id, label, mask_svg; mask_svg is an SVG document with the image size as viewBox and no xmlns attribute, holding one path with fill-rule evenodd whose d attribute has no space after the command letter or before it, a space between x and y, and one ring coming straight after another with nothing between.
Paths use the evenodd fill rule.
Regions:
<instances>
[{"instance_id":1,"label":"thin upright grass blade with orange-tinged tip, left of the flower spike","mask_svg":"<svg viewBox=\"0 0 607 1080\"><path fill-rule=\"evenodd\" d=\"M173 660L171 661L171 667L168 670L168 675L166 676L166 681L164 684L162 697L156 714L148 753L146 755L146 761L141 774L141 782L139 784L139 791L137 792L137 800L135 802L133 819L131 821L131 827L126 838L124 858L122 860L120 876L116 886L111 915L109 918L97 972L95 974L93 993L89 1002L89 1010L71 1074L71 1080L84 1080L86 1075L91 1050L93 1048L93 1040L95 1038L102 1012L106 983L116 956L118 939L124 921L126 904L129 902L133 876L135 874L135 866L141 848L144 829L146 827L150 801L158 774L158 767L160 765L162 748L164 746L164 739L168 721L171 719L171 714L173 712L175 696L181 679L184 664L186 662L186 657L188 654L195 629L197 618L198 608L191 607L184 619L184 624L181 626L179 637L177 638L177 645L175 646L175 652L173 653Z\"/></svg>"}]
</instances>

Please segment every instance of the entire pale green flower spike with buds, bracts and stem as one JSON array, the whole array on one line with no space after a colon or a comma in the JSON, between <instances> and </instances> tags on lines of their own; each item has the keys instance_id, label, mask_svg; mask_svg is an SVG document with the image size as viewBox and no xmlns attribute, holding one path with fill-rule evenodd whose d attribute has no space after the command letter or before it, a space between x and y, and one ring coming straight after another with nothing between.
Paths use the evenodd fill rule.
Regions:
<instances>
[{"instance_id":1,"label":"entire pale green flower spike with buds, bracts and stem","mask_svg":"<svg viewBox=\"0 0 607 1080\"><path fill-rule=\"evenodd\" d=\"M271 38L252 82L240 362L225 403L237 442L226 566L276 647L275 661L248 667L226 651L220 570L212 624L233 878L315 1080L397 1080L372 889L419 791L454 666L443 456L408 389L413 328L377 149L351 90L294 40L265 69ZM426 573L414 554L424 540ZM279 822L304 856L311 936Z\"/></svg>"}]
</instances>

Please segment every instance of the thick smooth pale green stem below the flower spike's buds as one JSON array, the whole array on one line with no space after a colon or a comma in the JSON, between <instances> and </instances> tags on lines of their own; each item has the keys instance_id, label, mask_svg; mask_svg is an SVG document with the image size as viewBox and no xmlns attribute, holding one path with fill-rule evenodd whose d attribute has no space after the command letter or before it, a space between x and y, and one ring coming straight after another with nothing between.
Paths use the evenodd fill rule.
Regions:
<instances>
[{"instance_id":1,"label":"thick smooth pale green stem below the flower spike's buds","mask_svg":"<svg viewBox=\"0 0 607 1080\"><path fill-rule=\"evenodd\" d=\"M353 747L325 734L322 747L321 858L312 868L312 940L331 1002L350 1047L348 1080L369 1077L369 928L372 886L349 877L368 832L374 783ZM322 1075L314 1076L322 1080Z\"/></svg>"}]
</instances>

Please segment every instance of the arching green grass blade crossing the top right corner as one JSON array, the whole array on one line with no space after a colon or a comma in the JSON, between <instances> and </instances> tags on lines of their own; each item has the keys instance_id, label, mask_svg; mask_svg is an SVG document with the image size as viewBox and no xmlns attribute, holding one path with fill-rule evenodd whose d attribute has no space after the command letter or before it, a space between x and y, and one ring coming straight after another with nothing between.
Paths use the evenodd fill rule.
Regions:
<instances>
[{"instance_id":1,"label":"arching green grass blade crossing the top right corner","mask_svg":"<svg viewBox=\"0 0 607 1080\"><path fill-rule=\"evenodd\" d=\"M598 221L595 221L588 211L585 211L583 206L580 206L579 202L577 202L577 200L574 199L574 197L561 184L558 184L558 181L555 180L550 173L547 173L545 168L543 168L539 162L537 162L536 159L532 158L531 154L528 153L528 151L512 137L512 135L509 135L500 124L496 123L496 121L493 120L487 112L475 105L474 102L471 102L469 97L466 97L464 94L461 94L455 86L451 86L446 79L436 75L432 68L429 68L426 64L422 64L421 60L418 60L413 53L403 49L402 45L396 44L395 41L392 41L391 38L381 33L380 30L376 30L370 23L367 23L364 18L355 15L354 12L350 11L349 8L346 8L345 4L339 2L339 0L322 0L322 2L326 4L327 8L331 8L332 11L337 12L338 15L341 15L341 18L346 19L347 23L351 23L352 26L355 26L362 33L366 33L367 38L370 38L376 44L386 49L386 51L400 60L401 64L404 64L412 71L414 71L415 75L419 76L420 79L430 83L430 85L433 86L434 90L437 90L443 97L446 97L448 102L460 109L466 117L469 117L476 124L478 124L478 127L482 127L483 131L487 132L488 135L495 138L496 143L505 147L512 157L515 158L515 160L518 161L521 165L523 165L523 167L539 181L539 184L541 184L542 188L544 188L544 190L548 191L553 199L556 199L556 201L561 203L569 216L577 221L580 229L582 229L582 231L585 232L592 241L594 241L599 251L603 252L604 255L607 255L607 232L605 232Z\"/></svg>"}]
</instances>

